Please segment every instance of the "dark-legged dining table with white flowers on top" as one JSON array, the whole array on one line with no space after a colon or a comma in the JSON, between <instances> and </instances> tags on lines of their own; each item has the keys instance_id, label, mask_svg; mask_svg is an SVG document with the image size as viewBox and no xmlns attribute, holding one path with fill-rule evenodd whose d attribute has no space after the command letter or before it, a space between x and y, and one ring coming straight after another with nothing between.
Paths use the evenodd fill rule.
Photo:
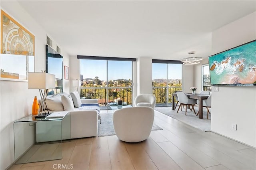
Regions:
<instances>
[{"instance_id":1,"label":"dark-legged dining table with white flowers on top","mask_svg":"<svg viewBox=\"0 0 256 170\"><path fill-rule=\"evenodd\" d=\"M210 95L192 93L185 94L188 96L189 99L198 99L198 118L203 119L203 100L207 99ZM172 93L172 110L175 110L175 96L177 97L177 93Z\"/></svg>"}]
</instances>

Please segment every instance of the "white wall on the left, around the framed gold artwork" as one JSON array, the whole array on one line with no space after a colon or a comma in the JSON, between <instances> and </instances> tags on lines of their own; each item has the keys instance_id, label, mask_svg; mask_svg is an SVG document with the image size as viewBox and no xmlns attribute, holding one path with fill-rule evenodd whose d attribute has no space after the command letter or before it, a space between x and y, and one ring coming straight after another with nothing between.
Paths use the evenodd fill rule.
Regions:
<instances>
[{"instance_id":1,"label":"white wall on the left, around the framed gold artwork","mask_svg":"<svg viewBox=\"0 0 256 170\"><path fill-rule=\"evenodd\" d=\"M0 1L1 9L35 36L35 71L46 69L46 31L26 13L18 1ZM61 42L58 42L61 47ZM69 57L62 50L63 65L69 66ZM64 70L63 70L64 71ZM64 80L64 91L69 92L69 80ZM27 81L0 80L0 169L14 162L13 122L32 113L34 96L38 90L28 90Z\"/></svg>"}]
</instances>

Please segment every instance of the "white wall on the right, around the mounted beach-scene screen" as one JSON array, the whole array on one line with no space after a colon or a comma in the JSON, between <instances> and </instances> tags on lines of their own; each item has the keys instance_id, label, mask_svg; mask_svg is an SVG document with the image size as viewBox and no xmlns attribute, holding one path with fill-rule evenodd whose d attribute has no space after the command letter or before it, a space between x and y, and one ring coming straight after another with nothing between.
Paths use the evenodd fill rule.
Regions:
<instances>
[{"instance_id":1,"label":"white wall on the right, around the mounted beach-scene screen","mask_svg":"<svg viewBox=\"0 0 256 170\"><path fill-rule=\"evenodd\" d=\"M256 12L214 31L212 54L255 39ZM256 147L256 87L220 86L212 91L211 130Z\"/></svg>"}]
</instances>

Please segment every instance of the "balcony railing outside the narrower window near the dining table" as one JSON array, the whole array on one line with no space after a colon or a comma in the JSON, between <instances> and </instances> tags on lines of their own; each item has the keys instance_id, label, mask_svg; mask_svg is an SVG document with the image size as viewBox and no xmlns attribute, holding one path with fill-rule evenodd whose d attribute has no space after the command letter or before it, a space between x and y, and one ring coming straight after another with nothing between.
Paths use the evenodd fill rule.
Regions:
<instances>
[{"instance_id":1,"label":"balcony railing outside the narrower window near the dining table","mask_svg":"<svg viewBox=\"0 0 256 170\"><path fill-rule=\"evenodd\" d=\"M164 106L167 104L166 102L166 96L168 96L168 105L171 105L172 103L172 93L175 91L182 91L182 87L180 86L171 86L168 87L168 95L167 93L167 87L152 87L152 94L156 97L156 106Z\"/></svg>"}]
</instances>

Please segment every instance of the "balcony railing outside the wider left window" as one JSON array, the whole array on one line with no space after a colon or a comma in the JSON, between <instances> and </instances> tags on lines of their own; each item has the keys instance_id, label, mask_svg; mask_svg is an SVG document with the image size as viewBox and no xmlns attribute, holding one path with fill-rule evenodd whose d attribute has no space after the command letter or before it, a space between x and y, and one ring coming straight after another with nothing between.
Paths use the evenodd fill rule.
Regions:
<instances>
[{"instance_id":1,"label":"balcony railing outside the wider left window","mask_svg":"<svg viewBox=\"0 0 256 170\"><path fill-rule=\"evenodd\" d=\"M81 99L98 99L101 106L117 105L118 100L123 101L123 105L132 105L132 87L80 87Z\"/></svg>"}]
</instances>

